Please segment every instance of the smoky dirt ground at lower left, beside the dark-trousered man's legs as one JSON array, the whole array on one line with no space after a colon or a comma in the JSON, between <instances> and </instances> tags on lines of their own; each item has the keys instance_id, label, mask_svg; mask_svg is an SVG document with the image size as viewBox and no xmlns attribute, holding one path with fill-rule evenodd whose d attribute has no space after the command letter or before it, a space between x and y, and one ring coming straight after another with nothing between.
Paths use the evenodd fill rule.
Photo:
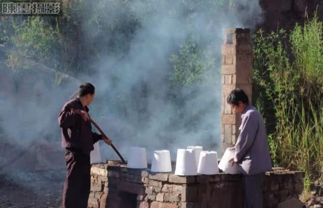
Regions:
<instances>
[{"instance_id":1,"label":"smoky dirt ground at lower left, beside the dark-trousered man's legs","mask_svg":"<svg viewBox=\"0 0 323 208\"><path fill-rule=\"evenodd\" d=\"M64 169L0 173L0 207L61 207L64 177Z\"/></svg>"}]
</instances>

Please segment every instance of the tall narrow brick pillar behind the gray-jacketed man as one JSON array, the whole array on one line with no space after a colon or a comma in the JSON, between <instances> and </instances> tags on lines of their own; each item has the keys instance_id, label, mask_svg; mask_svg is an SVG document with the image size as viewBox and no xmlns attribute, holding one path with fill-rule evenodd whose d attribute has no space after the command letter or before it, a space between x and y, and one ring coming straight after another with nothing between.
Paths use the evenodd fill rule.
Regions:
<instances>
[{"instance_id":1,"label":"tall narrow brick pillar behind the gray-jacketed man","mask_svg":"<svg viewBox=\"0 0 323 208\"><path fill-rule=\"evenodd\" d=\"M252 94L252 47L250 29L226 29L222 45L222 97L221 97L221 137L222 152L232 147L239 135L241 118L235 115L226 98L231 90L240 88L248 95Z\"/></svg>"}]
</instances>

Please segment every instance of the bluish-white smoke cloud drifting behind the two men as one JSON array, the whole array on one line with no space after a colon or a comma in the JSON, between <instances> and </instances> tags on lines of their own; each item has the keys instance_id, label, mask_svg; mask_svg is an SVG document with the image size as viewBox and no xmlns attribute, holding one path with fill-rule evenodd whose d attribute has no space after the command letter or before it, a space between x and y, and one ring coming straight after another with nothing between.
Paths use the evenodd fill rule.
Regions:
<instances>
[{"instance_id":1,"label":"bluish-white smoke cloud drifting behind the two men","mask_svg":"<svg viewBox=\"0 0 323 208\"><path fill-rule=\"evenodd\" d=\"M102 12L101 7L107 2L89 3L92 6L81 23L84 25L85 41L97 30L93 25L86 24L88 18L94 12ZM185 1L185 4L160 0L109 2L114 6L104 8L107 24L110 21L116 25L118 22L124 24L137 17L139 27L134 29L131 38L107 31L106 36L103 35L101 41L96 43L101 50L100 58L89 65L95 65L97 71L79 77L79 80L91 82L96 87L96 99L90 106L92 118L124 155L128 147L141 146L148 149L148 157L152 156L153 150L168 149L172 159L175 159L176 149L191 145L216 150L220 155L223 32L225 28L253 28L261 22L259 2L243 0L237 5L231 1L232 9L228 13L221 7L221 4L227 4L226 1L220 0L200 1L201 4L194 0ZM100 34L105 32L100 31ZM215 76L188 89L181 89L180 94L185 99L179 109L168 99L172 70L169 57L178 51L188 36L199 37L203 43L202 51L209 51ZM115 54L104 47L113 42L127 44L127 50ZM3 72L7 70L3 64L0 67ZM14 89L0 91L0 133L3 138L26 146L45 137L50 141L60 141L57 115L78 86L75 83L55 86L49 84L53 83L49 78L44 79L47 80L32 80L35 82L32 89L23 89L19 87L21 83L16 83ZM191 94L192 91L194 93ZM195 116L198 122L194 121ZM185 123L190 117L194 127ZM112 150L103 144L101 155L103 159L117 159Z\"/></svg>"}]
</instances>

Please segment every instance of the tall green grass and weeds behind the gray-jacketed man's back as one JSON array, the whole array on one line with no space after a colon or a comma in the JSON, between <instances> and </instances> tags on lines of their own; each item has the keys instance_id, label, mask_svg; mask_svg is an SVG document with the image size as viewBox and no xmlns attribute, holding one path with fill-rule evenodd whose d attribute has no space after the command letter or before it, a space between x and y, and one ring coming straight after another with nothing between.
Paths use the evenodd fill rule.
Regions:
<instances>
[{"instance_id":1,"label":"tall green grass and weeds behind the gray-jacketed man's back","mask_svg":"<svg viewBox=\"0 0 323 208\"><path fill-rule=\"evenodd\" d=\"M269 132L275 166L318 178L323 168L323 36L316 18L284 30L253 35L253 99Z\"/></svg>"}]
</instances>

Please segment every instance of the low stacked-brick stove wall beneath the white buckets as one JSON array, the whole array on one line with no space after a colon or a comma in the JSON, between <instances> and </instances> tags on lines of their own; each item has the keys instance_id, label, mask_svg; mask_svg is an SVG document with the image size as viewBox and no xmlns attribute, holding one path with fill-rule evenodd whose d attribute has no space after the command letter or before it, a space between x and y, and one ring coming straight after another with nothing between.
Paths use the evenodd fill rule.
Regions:
<instances>
[{"instance_id":1,"label":"low stacked-brick stove wall beneath the white buckets","mask_svg":"<svg viewBox=\"0 0 323 208\"><path fill-rule=\"evenodd\" d=\"M177 176L149 169L95 164L91 168L93 208L201 208L243 207L241 175ZM265 207L301 193L302 172L268 172L264 183Z\"/></svg>"}]
</instances>

